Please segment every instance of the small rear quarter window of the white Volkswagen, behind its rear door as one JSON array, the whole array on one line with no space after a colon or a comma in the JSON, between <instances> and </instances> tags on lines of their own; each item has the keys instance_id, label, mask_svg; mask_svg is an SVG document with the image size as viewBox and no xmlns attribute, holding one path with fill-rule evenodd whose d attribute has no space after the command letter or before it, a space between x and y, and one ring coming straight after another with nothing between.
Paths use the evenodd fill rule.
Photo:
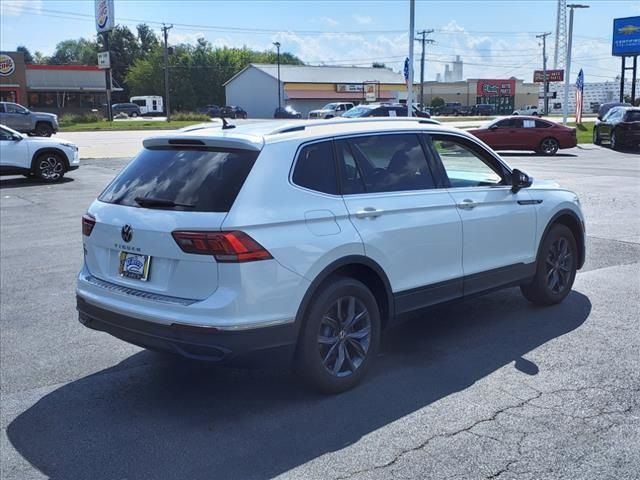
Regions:
<instances>
[{"instance_id":1,"label":"small rear quarter window of the white Volkswagen, behind its rear door","mask_svg":"<svg viewBox=\"0 0 640 480\"><path fill-rule=\"evenodd\" d=\"M293 171L293 183L316 192L338 194L331 142L313 143L302 148Z\"/></svg>"}]
</instances>

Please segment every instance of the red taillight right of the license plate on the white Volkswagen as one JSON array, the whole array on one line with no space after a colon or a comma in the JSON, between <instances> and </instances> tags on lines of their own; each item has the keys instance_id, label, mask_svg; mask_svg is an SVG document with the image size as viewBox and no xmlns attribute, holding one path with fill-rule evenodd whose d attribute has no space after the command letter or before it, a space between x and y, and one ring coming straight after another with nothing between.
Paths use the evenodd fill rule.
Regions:
<instances>
[{"instance_id":1,"label":"red taillight right of the license plate on the white Volkswagen","mask_svg":"<svg viewBox=\"0 0 640 480\"><path fill-rule=\"evenodd\" d=\"M262 245L244 232L173 232L186 253L213 255L218 262L238 263L273 258Z\"/></svg>"}]
</instances>

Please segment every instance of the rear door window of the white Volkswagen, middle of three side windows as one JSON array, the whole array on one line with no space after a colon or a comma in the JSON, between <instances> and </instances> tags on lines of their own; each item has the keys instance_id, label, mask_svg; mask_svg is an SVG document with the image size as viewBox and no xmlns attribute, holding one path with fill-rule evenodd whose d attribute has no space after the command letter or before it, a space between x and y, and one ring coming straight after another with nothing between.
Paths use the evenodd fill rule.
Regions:
<instances>
[{"instance_id":1,"label":"rear door window of the white Volkswagen, middle of three side windows","mask_svg":"<svg viewBox=\"0 0 640 480\"><path fill-rule=\"evenodd\" d=\"M353 138L349 144L367 192L435 188L417 135L371 135Z\"/></svg>"}]
</instances>

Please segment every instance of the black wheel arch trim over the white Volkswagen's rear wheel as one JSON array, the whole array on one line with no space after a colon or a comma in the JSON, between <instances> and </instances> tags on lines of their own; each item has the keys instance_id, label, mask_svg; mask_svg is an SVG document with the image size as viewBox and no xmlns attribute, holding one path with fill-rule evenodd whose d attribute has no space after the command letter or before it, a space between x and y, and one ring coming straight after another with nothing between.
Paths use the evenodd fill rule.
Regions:
<instances>
[{"instance_id":1,"label":"black wheel arch trim over the white Volkswagen's rear wheel","mask_svg":"<svg viewBox=\"0 0 640 480\"><path fill-rule=\"evenodd\" d=\"M305 314L315 293L335 277L350 277L365 284L371 290L380 308L382 327L384 328L390 323L390 319L393 318L395 313L395 308L389 278L382 267L370 258L362 255L349 255L329 264L311 282L302 297L302 302L296 314L296 323L299 326L302 326L304 322Z\"/></svg>"}]
</instances>

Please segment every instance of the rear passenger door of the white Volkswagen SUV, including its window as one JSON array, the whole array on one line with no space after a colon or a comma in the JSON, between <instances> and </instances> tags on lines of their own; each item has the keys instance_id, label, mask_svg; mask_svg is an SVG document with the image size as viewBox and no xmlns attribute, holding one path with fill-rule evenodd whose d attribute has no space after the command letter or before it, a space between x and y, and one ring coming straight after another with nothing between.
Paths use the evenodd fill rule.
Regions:
<instances>
[{"instance_id":1,"label":"rear passenger door of the white Volkswagen SUV, including its window","mask_svg":"<svg viewBox=\"0 0 640 480\"><path fill-rule=\"evenodd\" d=\"M462 224L416 133L337 140L342 193L398 313L462 294Z\"/></svg>"}]
</instances>

